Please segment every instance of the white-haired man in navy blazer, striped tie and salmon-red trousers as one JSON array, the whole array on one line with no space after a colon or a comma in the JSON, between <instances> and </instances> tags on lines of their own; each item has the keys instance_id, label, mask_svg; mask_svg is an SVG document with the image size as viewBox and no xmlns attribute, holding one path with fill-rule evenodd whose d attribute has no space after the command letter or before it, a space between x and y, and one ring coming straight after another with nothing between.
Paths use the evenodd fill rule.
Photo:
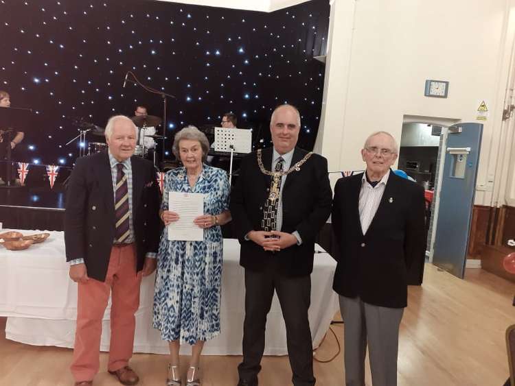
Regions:
<instances>
[{"instance_id":1,"label":"white-haired man in navy blazer, striped tie and salmon-red trousers","mask_svg":"<svg viewBox=\"0 0 515 386\"><path fill-rule=\"evenodd\" d=\"M93 383L99 368L102 317L111 295L108 371L124 385L139 378L133 353L141 276L156 266L159 186L152 162L133 156L134 123L118 115L106 125L107 153L78 158L67 187L66 259L78 283L71 373L76 385Z\"/></svg>"}]
</instances>

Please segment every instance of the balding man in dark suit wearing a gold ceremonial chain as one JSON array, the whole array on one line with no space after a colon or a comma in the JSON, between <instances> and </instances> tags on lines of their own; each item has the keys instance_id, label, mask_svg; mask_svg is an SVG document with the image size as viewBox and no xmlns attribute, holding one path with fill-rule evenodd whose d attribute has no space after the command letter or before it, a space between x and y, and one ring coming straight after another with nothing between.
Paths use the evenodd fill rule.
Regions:
<instances>
[{"instance_id":1,"label":"balding man in dark suit wearing a gold ceremonial chain","mask_svg":"<svg viewBox=\"0 0 515 386\"><path fill-rule=\"evenodd\" d=\"M231 215L245 268L243 361L239 386L258 385L266 315L274 291L286 324L295 386L314 385L308 309L314 239L331 210L328 162L296 147L300 114L290 105L272 114L273 147L244 160L231 193ZM282 165L282 166L278 166ZM273 183L272 171L283 176ZM270 205L277 210L268 211Z\"/></svg>"}]
</instances>

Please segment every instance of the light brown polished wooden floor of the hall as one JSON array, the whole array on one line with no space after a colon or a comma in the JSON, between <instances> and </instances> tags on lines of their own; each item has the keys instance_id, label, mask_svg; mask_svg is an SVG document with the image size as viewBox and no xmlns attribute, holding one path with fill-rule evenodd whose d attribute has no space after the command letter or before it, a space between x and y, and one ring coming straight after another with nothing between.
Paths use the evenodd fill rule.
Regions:
<instances>
[{"instance_id":1,"label":"light brown polished wooden floor of the hall","mask_svg":"<svg viewBox=\"0 0 515 386\"><path fill-rule=\"evenodd\" d=\"M417 386L501 386L508 376L504 334L515 323L512 306L515 284L481 269L468 269L459 280L426 265L424 285L410 287L409 307L400 330L398 384ZM336 315L335 319L339 319ZM333 325L343 344L343 325ZM5 318L0 318L5 330ZM338 350L328 333L317 359L329 359ZM119 385L107 374L106 354L94 385ZM135 354L131 365L139 385L164 385L165 355ZM204 357L204 386L236 386L241 357ZM27 346L0 336L1 386L73 385L68 366L71 350ZM183 362L186 361L186 358ZM260 385L290 385L288 357L265 357ZM343 354L330 363L314 363L317 385L343 385ZM371 385L367 367L367 385Z\"/></svg>"}]
</instances>

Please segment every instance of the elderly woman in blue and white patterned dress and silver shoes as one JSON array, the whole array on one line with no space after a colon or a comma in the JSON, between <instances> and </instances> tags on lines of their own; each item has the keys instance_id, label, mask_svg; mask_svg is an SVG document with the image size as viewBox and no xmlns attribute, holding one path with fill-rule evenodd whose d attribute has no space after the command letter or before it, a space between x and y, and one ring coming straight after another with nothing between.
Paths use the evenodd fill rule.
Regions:
<instances>
[{"instance_id":1,"label":"elderly woman in blue and white patterned dress and silver shoes","mask_svg":"<svg viewBox=\"0 0 515 386\"><path fill-rule=\"evenodd\" d=\"M172 152L183 167L166 173L161 204L165 226L179 219L168 207L168 192L203 193L204 215L194 224L204 241L169 241L161 234L154 295L153 326L170 346L166 385L180 386L179 348L192 345L187 386L200 385L199 362L204 342L220 334L220 285L223 239L220 226L231 221L229 179L222 169L204 163L209 150L205 134L194 126L175 135Z\"/></svg>"}]
</instances>

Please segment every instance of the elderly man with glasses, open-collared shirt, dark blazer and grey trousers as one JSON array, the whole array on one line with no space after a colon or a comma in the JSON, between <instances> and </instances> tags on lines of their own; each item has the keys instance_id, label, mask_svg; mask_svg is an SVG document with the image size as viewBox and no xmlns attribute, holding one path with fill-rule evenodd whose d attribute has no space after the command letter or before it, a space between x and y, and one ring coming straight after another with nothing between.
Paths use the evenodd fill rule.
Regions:
<instances>
[{"instance_id":1,"label":"elderly man with glasses, open-collared shirt, dark blazer and grey trousers","mask_svg":"<svg viewBox=\"0 0 515 386\"><path fill-rule=\"evenodd\" d=\"M391 134L371 134L361 155L365 173L338 180L332 206L345 383L365 385L368 343L373 385L394 386L407 270L425 254L424 189L391 171L398 155Z\"/></svg>"}]
</instances>

